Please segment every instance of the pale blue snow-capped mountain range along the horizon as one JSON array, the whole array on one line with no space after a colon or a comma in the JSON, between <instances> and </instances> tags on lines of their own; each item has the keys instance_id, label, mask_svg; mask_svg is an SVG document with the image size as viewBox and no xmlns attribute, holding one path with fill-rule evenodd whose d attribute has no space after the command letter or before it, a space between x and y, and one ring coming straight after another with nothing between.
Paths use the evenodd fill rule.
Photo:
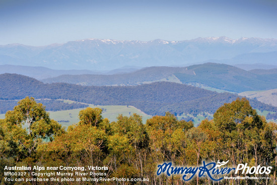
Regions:
<instances>
[{"instance_id":1,"label":"pale blue snow-capped mountain range along the horizon","mask_svg":"<svg viewBox=\"0 0 277 185\"><path fill-rule=\"evenodd\" d=\"M227 37L184 41L85 39L64 44L0 46L0 65L56 70L114 70L124 66L188 66L206 60L224 64L276 65L277 39Z\"/></svg>"}]
</instances>

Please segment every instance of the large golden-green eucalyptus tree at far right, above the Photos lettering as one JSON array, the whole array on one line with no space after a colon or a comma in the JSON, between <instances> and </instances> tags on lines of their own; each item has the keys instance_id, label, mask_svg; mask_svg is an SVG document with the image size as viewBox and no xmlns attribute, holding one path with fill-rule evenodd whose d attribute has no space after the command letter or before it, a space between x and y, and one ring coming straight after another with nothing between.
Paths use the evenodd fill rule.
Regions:
<instances>
[{"instance_id":1,"label":"large golden-green eucalyptus tree at far right, above the Photos lettering","mask_svg":"<svg viewBox=\"0 0 277 185\"><path fill-rule=\"evenodd\" d=\"M240 163L276 165L273 162L276 156L276 124L267 123L246 98L225 103L215 112L214 122L225 143L222 151L230 154L234 166Z\"/></svg>"}]
</instances>

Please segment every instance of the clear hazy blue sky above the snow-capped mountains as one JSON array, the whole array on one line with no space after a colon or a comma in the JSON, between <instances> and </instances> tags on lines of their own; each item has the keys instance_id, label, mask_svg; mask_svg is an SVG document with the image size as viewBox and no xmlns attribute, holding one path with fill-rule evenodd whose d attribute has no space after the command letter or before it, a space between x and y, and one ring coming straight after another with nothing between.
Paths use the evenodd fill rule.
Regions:
<instances>
[{"instance_id":1,"label":"clear hazy blue sky above the snow-capped mountains","mask_svg":"<svg viewBox=\"0 0 277 185\"><path fill-rule=\"evenodd\" d=\"M277 0L0 0L0 45L277 38Z\"/></svg>"}]
</instances>

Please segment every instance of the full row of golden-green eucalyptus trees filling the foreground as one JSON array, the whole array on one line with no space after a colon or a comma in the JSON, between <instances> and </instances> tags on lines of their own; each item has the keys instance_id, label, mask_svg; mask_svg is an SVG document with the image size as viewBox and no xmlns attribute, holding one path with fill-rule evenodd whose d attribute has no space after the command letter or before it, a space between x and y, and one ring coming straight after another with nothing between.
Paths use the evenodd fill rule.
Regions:
<instances>
[{"instance_id":1,"label":"full row of golden-green eucalyptus trees filling the foreground","mask_svg":"<svg viewBox=\"0 0 277 185\"><path fill-rule=\"evenodd\" d=\"M276 129L274 122L238 98L220 106L212 120L203 120L195 128L192 122L178 120L166 112L153 116L146 124L142 117L118 115L117 121L103 118L100 108L80 111L80 121L65 131L49 118L45 107L26 97L0 119L0 184L275 184ZM27 129L22 125L26 124ZM270 177L271 179L223 179L213 181L209 175L183 180L182 175L157 175L157 166L171 161L175 166L199 166L203 161L228 161L227 167L270 166L270 173L245 174L242 170L230 177ZM106 166L93 175L74 173L71 178L142 178L147 181L32 181L28 172L53 173L51 177L68 177L68 170L44 169L49 166ZM4 176L5 166L36 166L16 170L18 175ZM39 168L41 167L41 168ZM40 170L38 170L40 169ZM252 168L251 168L252 169ZM173 169L172 169L173 170ZM7 171L7 170L6 170ZM24 175L24 172L26 174ZM102 173L100 173L102 172ZM32 174L32 173L31 173ZM200 175L199 175L200 176ZM222 175L221 175L222 176ZM21 178L25 182L5 181ZM33 175L32 178L36 178ZM44 173L41 177L50 178Z\"/></svg>"}]
</instances>

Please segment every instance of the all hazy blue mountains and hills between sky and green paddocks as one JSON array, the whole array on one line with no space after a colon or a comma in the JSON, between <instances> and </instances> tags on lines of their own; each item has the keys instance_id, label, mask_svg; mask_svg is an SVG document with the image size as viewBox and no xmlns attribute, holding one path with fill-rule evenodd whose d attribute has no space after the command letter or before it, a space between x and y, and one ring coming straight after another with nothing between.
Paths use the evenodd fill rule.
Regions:
<instances>
[{"instance_id":1,"label":"all hazy blue mountains and hills between sky and green paddocks","mask_svg":"<svg viewBox=\"0 0 277 185\"><path fill-rule=\"evenodd\" d=\"M254 96L241 95L255 98L251 100L253 107L277 117L276 107L269 105L275 105L271 99L276 92L270 90L277 89L276 61L277 39L261 38L148 42L85 39L40 47L2 45L0 106L4 112L15 100L34 96L46 98L44 103L55 110L70 108L58 102L69 99L133 105L151 115L166 111L204 115L235 100L236 93L268 90ZM74 105L81 106L84 104Z\"/></svg>"}]
</instances>

